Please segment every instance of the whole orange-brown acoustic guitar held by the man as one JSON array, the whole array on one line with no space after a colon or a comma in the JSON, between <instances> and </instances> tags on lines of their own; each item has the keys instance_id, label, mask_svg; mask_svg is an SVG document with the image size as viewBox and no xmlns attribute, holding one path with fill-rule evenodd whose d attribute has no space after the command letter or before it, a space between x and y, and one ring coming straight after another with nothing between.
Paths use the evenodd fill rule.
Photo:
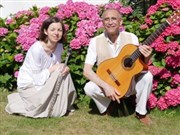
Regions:
<instances>
[{"instance_id":1,"label":"whole orange-brown acoustic guitar held by the man","mask_svg":"<svg viewBox=\"0 0 180 135\"><path fill-rule=\"evenodd\" d=\"M180 11L166 19L143 44L151 45L166 27L178 19L180 20ZM146 67L140 56L142 54L137 46L127 44L122 48L117 57L107 59L99 64L96 72L97 75L118 90L121 94L118 98L122 98L127 93L133 76L140 73Z\"/></svg>"}]
</instances>

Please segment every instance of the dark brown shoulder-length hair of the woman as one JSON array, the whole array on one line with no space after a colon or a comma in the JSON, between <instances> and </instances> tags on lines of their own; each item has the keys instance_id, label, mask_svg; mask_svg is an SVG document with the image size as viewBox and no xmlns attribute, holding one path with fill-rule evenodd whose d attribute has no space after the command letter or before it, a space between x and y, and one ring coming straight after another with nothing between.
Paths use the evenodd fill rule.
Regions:
<instances>
[{"instance_id":1,"label":"dark brown shoulder-length hair of the woman","mask_svg":"<svg viewBox=\"0 0 180 135\"><path fill-rule=\"evenodd\" d=\"M62 35L62 38L58 41L58 42L61 42L61 43L64 43L66 41L66 30L65 30L65 27L64 27L64 24L63 24L63 21L58 18L58 17L50 17L48 19L46 19L42 26L41 26L41 29L40 29L40 34L39 34L39 40L40 41L44 41L44 42L47 42L47 35L44 33L44 30L47 30L49 28L49 25L52 24L52 23L61 23L62 25L62 30L63 30L63 35Z\"/></svg>"}]
</instances>

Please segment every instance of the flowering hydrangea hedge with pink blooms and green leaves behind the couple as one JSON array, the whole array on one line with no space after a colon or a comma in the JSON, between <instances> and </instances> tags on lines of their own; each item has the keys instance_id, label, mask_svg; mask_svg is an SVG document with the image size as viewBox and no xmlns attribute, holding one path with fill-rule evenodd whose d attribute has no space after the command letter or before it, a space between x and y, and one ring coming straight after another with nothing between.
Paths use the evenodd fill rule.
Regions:
<instances>
[{"instance_id":1,"label":"flowering hydrangea hedge with pink blooms and green leaves behind the couple","mask_svg":"<svg viewBox=\"0 0 180 135\"><path fill-rule=\"evenodd\" d=\"M0 19L0 87L9 90L16 89L19 67L22 65L27 50L37 40L42 22L49 16L58 16L64 20L67 30L67 42L64 48L65 50L73 49L68 65L79 99L83 99L83 87L87 80L82 72L87 46L90 38L103 32L101 23L103 10L109 7L118 9L123 14L124 22L120 30L133 32L140 41L143 41L177 9L178 4L176 1L167 3L159 0L148 10L145 21L141 15L136 15L131 7L123 6L119 2L91 5L85 2L72 2L72 0L56 7L33 6L29 10L19 11L11 18ZM166 14L164 15L163 12ZM152 44L154 52L149 68L155 78L154 91L149 99L150 108L157 106L160 109L166 109L180 104L180 101L176 101L178 98L175 98L175 95L180 97L178 93L180 91L179 63L176 61L179 60L178 29L179 25L171 25ZM167 49L160 49L164 46ZM66 51L63 56L65 55ZM167 101L169 101L168 105ZM172 105L172 102L170 104L170 101L174 104ZM167 107L162 107L165 106L164 104Z\"/></svg>"}]
</instances>

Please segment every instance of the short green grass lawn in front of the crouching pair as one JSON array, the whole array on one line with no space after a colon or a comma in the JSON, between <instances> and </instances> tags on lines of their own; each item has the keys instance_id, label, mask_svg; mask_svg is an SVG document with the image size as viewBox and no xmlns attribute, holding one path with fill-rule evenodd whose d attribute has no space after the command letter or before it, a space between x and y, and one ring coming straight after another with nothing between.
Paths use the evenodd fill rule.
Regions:
<instances>
[{"instance_id":1,"label":"short green grass lawn in front of the crouching pair","mask_svg":"<svg viewBox=\"0 0 180 135\"><path fill-rule=\"evenodd\" d=\"M180 107L152 110L153 124L144 126L133 114L124 117L91 113L85 103L77 104L72 116L31 119L4 111L7 92L0 92L0 135L179 135Z\"/></svg>"}]
</instances>

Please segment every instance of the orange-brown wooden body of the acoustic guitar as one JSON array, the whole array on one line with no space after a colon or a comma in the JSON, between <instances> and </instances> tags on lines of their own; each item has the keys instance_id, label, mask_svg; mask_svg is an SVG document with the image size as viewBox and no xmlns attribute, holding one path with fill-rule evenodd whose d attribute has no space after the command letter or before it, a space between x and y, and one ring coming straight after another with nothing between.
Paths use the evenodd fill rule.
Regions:
<instances>
[{"instance_id":1,"label":"orange-brown wooden body of the acoustic guitar","mask_svg":"<svg viewBox=\"0 0 180 135\"><path fill-rule=\"evenodd\" d=\"M118 90L121 94L119 98L128 91L133 76L140 73L145 66L139 58L131 67L124 65L125 59L136 49L135 45L125 45L117 57L103 61L97 68L97 75Z\"/></svg>"}]
</instances>

